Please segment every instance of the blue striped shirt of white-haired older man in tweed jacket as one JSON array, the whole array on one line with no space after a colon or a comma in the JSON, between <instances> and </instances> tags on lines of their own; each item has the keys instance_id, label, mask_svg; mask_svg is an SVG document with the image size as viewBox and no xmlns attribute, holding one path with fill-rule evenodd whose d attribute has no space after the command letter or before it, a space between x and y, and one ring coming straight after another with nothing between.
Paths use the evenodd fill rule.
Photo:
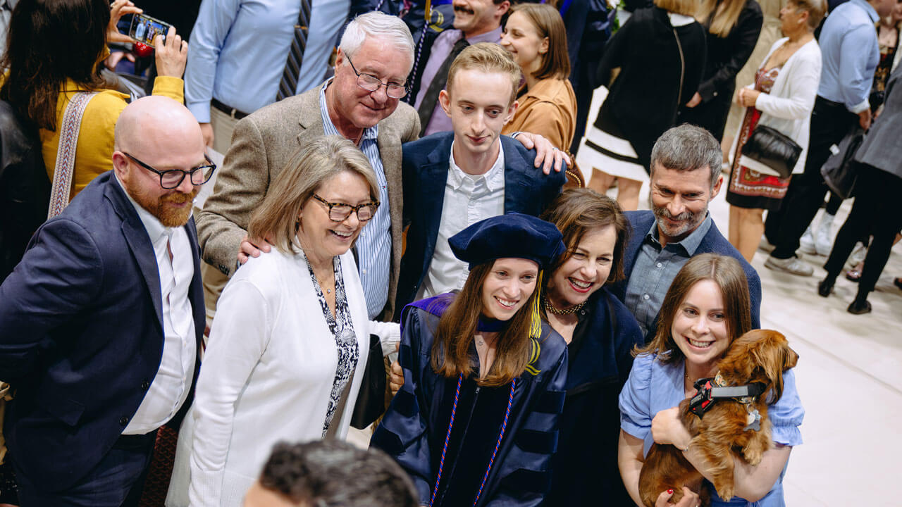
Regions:
<instances>
[{"instance_id":1,"label":"blue striped shirt of white-haired older man in tweed jacket","mask_svg":"<svg viewBox=\"0 0 902 507\"><path fill-rule=\"evenodd\" d=\"M326 135L340 135L336 125L329 118L326 106L326 88L332 80L319 92L319 112L323 116L323 131ZM360 270L360 281L364 285L366 309L370 318L376 318L385 308L389 299L389 275L391 274L391 215L389 215L389 189L385 180L385 169L382 157L379 156L379 125L364 130L360 139L360 150L373 166L376 181L379 183L379 209L373 218L364 226L354 248L357 249L357 268Z\"/></svg>"}]
</instances>

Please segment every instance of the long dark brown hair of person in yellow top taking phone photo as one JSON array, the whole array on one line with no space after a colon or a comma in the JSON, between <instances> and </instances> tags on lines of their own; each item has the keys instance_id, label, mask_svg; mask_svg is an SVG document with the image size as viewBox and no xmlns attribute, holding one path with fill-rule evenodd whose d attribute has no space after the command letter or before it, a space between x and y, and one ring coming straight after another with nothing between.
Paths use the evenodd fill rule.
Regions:
<instances>
[{"instance_id":1,"label":"long dark brown hair of person in yellow top taking phone photo","mask_svg":"<svg viewBox=\"0 0 902 507\"><path fill-rule=\"evenodd\" d=\"M104 87L97 62L106 50L107 0L22 0L9 20L9 69L0 97L31 124L57 129L57 101L67 79ZM75 92L77 90L71 90Z\"/></svg>"}]
</instances>

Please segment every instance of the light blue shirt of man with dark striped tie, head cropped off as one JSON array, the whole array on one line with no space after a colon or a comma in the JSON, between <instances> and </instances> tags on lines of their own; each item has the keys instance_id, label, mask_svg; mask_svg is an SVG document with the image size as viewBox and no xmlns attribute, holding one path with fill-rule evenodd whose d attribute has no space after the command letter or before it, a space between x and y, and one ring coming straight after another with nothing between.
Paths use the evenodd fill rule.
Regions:
<instances>
[{"instance_id":1,"label":"light blue shirt of man with dark striped tie, head cropped off","mask_svg":"<svg viewBox=\"0 0 902 507\"><path fill-rule=\"evenodd\" d=\"M311 2L297 93L323 81L350 5ZM275 102L299 12L299 0L203 1L185 69L185 105L198 122L210 121L211 98L247 114Z\"/></svg>"}]
</instances>

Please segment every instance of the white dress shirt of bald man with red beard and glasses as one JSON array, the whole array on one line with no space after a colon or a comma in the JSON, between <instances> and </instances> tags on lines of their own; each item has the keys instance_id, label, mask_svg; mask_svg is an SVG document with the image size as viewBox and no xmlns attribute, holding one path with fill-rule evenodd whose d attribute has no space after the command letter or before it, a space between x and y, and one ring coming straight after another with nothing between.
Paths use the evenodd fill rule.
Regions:
<instances>
[{"instance_id":1,"label":"white dress shirt of bald man with red beard and glasses","mask_svg":"<svg viewBox=\"0 0 902 507\"><path fill-rule=\"evenodd\" d=\"M116 179L118 181L118 178ZM119 182L122 185L122 182ZM124 187L123 187L124 190ZM194 262L184 227L163 226L125 191L151 238L160 273L163 315L163 355L160 368L138 410L122 432L143 435L166 424L188 398L194 377L197 343L188 290L194 277ZM171 260L170 260L171 249Z\"/></svg>"}]
</instances>

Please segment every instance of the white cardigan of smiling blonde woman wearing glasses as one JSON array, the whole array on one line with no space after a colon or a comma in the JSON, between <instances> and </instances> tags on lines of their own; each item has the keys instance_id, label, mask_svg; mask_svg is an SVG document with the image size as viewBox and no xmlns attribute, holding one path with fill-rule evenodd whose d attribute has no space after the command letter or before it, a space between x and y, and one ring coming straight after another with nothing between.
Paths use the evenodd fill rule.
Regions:
<instances>
[{"instance_id":1,"label":"white cardigan of smiling blonde woman wearing glasses","mask_svg":"<svg viewBox=\"0 0 902 507\"><path fill-rule=\"evenodd\" d=\"M341 420L332 421L345 438L370 324L354 256L347 252L340 259L360 351ZM322 438L337 360L335 337L300 253L273 248L235 272L216 305L195 394L190 505L240 506L273 444ZM169 504L178 503L173 493L184 495L170 487Z\"/></svg>"}]
</instances>

